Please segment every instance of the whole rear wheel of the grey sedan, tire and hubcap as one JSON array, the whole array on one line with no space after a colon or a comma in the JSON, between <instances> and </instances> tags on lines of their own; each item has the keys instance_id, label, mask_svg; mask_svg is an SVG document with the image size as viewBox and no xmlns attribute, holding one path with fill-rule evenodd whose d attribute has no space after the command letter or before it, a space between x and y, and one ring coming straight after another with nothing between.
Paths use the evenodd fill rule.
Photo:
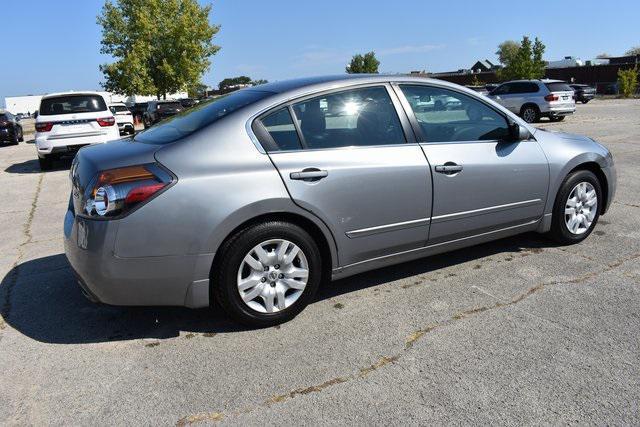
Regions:
<instances>
[{"instance_id":1,"label":"whole rear wheel of the grey sedan, tire and hubcap","mask_svg":"<svg viewBox=\"0 0 640 427\"><path fill-rule=\"evenodd\" d=\"M267 327L300 313L321 275L320 251L309 233L270 221L238 232L223 245L211 294L237 322Z\"/></svg>"}]
</instances>

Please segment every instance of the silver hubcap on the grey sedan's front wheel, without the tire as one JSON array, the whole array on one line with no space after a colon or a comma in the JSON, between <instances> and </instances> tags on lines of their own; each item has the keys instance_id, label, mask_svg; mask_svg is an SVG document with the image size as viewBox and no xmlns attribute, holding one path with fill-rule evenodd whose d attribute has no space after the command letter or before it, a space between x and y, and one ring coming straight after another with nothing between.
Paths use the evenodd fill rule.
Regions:
<instances>
[{"instance_id":1,"label":"silver hubcap on the grey sedan's front wheel, without the tire","mask_svg":"<svg viewBox=\"0 0 640 427\"><path fill-rule=\"evenodd\" d=\"M573 187L564 207L564 221L572 234L583 234L589 230L598 212L598 195L589 182Z\"/></svg>"}]
</instances>

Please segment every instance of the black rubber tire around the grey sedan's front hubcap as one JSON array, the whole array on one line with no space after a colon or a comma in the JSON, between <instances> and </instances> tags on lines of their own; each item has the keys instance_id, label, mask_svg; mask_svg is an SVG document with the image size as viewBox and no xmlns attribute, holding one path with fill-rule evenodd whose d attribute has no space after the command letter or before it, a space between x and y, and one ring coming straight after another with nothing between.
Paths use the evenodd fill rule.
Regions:
<instances>
[{"instance_id":1,"label":"black rubber tire around the grey sedan's front hubcap","mask_svg":"<svg viewBox=\"0 0 640 427\"><path fill-rule=\"evenodd\" d=\"M581 182L588 182L595 189L596 197L598 200L598 208L589 228L582 234L574 234L569 231L569 228L567 227L565 221L565 206L569 195L571 194L571 191L576 185L578 185L578 183ZM558 190L558 194L556 195L556 200L553 205L551 230L548 233L549 237L563 245L571 245L583 241L589 236L589 234L591 234L594 227L598 223L598 219L600 218L600 210L602 209L602 203L602 187L600 186L600 181L598 181L598 178L593 174L593 172L588 170L578 170L570 173L565 178L564 182L560 186L560 189Z\"/></svg>"}]
</instances>

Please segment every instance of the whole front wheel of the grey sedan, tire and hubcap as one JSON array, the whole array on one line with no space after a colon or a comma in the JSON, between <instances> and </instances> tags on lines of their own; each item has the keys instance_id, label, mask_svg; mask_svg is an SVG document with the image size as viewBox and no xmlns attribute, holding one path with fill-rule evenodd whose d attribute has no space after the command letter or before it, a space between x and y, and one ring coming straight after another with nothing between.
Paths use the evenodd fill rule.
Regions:
<instances>
[{"instance_id":1,"label":"whole front wheel of the grey sedan, tire and hubcap","mask_svg":"<svg viewBox=\"0 0 640 427\"><path fill-rule=\"evenodd\" d=\"M562 244L583 241L598 222L600 206L602 188L593 172L571 173L556 196L550 237Z\"/></svg>"}]
</instances>

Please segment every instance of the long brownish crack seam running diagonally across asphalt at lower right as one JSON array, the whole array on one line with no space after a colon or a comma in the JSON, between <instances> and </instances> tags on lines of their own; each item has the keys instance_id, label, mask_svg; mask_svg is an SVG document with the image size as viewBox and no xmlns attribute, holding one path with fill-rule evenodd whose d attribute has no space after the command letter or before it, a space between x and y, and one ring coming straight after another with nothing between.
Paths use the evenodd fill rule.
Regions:
<instances>
[{"instance_id":1,"label":"long brownish crack seam running diagonally across asphalt at lower right","mask_svg":"<svg viewBox=\"0 0 640 427\"><path fill-rule=\"evenodd\" d=\"M398 360L400 360L400 358L403 356L403 354L407 351L409 351L411 348L413 348L414 344L419 341L422 337L424 337L425 335L427 335L428 333L436 330L436 329L440 329L443 328L445 326L449 326L457 321L461 321L464 319L468 319L470 317L474 317L476 315L479 315L481 313L487 312L487 311L492 311L495 309L499 309L499 308L504 308L504 307L509 307L509 306L513 306L516 305L524 300L526 300L527 298L529 298L531 295L534 295L542 290L544 290L545 288L549 287L549 286L557 286L557 285L570 285L570 284L578 284L578 283L583 283L589 279L593 279L601 274L607 273L617 267L620 267L623 263L627 262L627 261L632 261L632 260L636 260L640 258L640 252L635 253L633 255L624 257L624 258L620 258L610 264L608 264L605 268L599 270L599 271L591 271L589 273L583 274L582 276L578 276L578 277L574 277L573 279L567 279L567 280L553 280L550 282L546 282L546 283L539 283L531 288L529 288L526 292L518 295L517 297L511 299L511 300L502 300L502 299L498 299L494 296L492 296L491 294L487 294L490 297L493 297L495 299L498 299L498 301L495 304L491 304L491 305L487 305L487 306L481 306L481 307L477 307L477 308L473 308L473 309L469 309L469 310L464 310L461 311L455 315L453 315L452 317L450 317L449 319L440 322L440 323L435 323L432 325L429 325L425 328L422 329L418 329L414 332L412 332L405 340L405 345L403 347L403 349L396 353L393 356L382 356L377 362L375 362L374 364L364 367L364 368L360 368L359 371L357 373L353 373L350 375L346 375L346 376L341 376L341 377L335 377L332 379L329 379L321 384L318 385L311 385L308 387L301 387L301 388L297 388L294 389L288 393L284 393L284 394L279 394L279 395L275 395L270 397L269 399L265 400L262 404L257 405L255 407L252 408L245 408L245 409L240 409L240 410L236 410L236 411L231 411L227 414L224 414L222 412L203 412L203 413L198 413L198 414L194 414L194 415L189 415L186 417L181 418L180 420L178 420L176 422L176 426L178 427L183 427L185 425L189 425L189 424L195 424L195 423L199 423L199 422L216 422L216 421L220 421L222 420L225 416L232 416L232 415L240 415L243 413L248 413L251 412L255 409L258 409L260 407L270 407L272 405L275 404L280 404L284 401L293 399L295 397L298 396L302 396L302 395L306 395L306 394L310 394L310 393L317 393L317 392L321 392L327 388L333 387L335 385L338 384L343 384L346 382L350 382L353 380L357 380L360 378L364 378L367 375L371 374L372 372L387 366L389 364L393 364L396 363Z\"/></svg>"}]
</instances>

